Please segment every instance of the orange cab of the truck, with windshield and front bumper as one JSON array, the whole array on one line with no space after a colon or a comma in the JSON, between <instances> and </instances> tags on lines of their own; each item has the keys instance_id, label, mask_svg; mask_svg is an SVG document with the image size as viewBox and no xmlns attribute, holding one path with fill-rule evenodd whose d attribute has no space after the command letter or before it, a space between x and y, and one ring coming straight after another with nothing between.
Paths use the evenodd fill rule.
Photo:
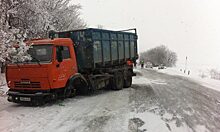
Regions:
<instances>
[{"instance_id":1,"label":"orange cab of the truck, with windshield and front bumper","mask_svg":"<svg viewBox=\"0 0 220 132\"><path fill-rule=\"evenodd\" d=\"M29 54L34 58L30 62L7 66L9 101L29 101L29 96L39 98L50 95L51 91L66 87L68 79L78 73L71 39L45 39L29 43L33 44ZM62 60L59 60L59 54L62 54Z\"/></svg>"}]
</instances>

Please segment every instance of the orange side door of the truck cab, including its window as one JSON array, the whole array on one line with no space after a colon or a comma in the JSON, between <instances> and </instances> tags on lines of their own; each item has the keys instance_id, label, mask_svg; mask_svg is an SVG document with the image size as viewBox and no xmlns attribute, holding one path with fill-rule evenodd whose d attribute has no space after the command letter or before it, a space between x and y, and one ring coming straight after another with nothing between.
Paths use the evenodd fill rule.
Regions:
<instances>
[{"instance_id":1,"label":"orange side door of the truck cab, including its window","mask_svg":"<svg viewBox=\"0 0 220 132\"><path fill-rule=\"evenodd\" d=\"M61 48L62 47L62 48ZM62 49L62 62L58 62L58 51ZM56 79L53 82L54 88L61 88L66 85L67 80L73 74L74 62L70 55L70 48L68 46L56 46L56 65L55 65L55 76Z\"/></svg>"}]
</instances>

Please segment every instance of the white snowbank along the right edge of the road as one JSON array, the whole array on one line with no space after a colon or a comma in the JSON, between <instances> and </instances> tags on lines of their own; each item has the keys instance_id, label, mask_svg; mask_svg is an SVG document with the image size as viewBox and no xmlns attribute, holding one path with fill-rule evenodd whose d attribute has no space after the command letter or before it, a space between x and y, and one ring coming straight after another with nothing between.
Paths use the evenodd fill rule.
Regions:
<instances>
[{"instance_id":1,"label":"white snowbank along the right edge of the road","mask_svg":"<svg viewBox=\"0 0 220 132\"><path fill-rule=\"evenodd\" d=\"M179 71L179 69L177 69L177 68L166 68L166 69L161 69L161 70L154 69L154 70L161 72L161 73L169 74L169 75L183 76L183 77L189 78L189 79L193 80L194 82L197 82L205 87L220 91L220 80L214 80L214 79L211 79L208 77L201 78L196 73L191 74L191 75L187 75L187 74L184 74L183 72Z\"/></svg>"}]
</instances>

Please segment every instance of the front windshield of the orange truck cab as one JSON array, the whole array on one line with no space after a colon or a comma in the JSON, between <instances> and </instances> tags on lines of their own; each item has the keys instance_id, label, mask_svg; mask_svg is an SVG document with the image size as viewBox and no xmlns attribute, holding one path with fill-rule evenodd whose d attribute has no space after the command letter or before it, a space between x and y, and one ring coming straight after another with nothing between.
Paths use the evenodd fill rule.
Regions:
<instances>
[{"instance_id":1,"label":"front windshield of the orange truck cab","mask_svg":"<svg viewBox=\"0 0 220 132\"><path fill-rule=\"evenodd\" d=\"M31 62L51 62L52 60L52 45L33 45L28 53L31 55Z\"/></svg>"}]
</instances>

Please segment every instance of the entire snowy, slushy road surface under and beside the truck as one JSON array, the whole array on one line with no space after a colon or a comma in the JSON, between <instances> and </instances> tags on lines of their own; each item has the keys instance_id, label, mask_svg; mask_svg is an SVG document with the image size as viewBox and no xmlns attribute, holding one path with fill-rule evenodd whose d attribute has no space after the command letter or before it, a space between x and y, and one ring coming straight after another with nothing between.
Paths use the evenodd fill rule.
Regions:
<instances>
[{"instance_id":1,"label":"entire snowy, slushy road surface under and beside the truck","mask_svg":"<svg viewBox=\"0 0 220 132\"><path fill-rule=\"evenodd\" d=\"M220 92L185 77L136 71L131 88L99 90L41 107L0 97L0 131L220 131Z\"/></svg>"}]
</instances>

